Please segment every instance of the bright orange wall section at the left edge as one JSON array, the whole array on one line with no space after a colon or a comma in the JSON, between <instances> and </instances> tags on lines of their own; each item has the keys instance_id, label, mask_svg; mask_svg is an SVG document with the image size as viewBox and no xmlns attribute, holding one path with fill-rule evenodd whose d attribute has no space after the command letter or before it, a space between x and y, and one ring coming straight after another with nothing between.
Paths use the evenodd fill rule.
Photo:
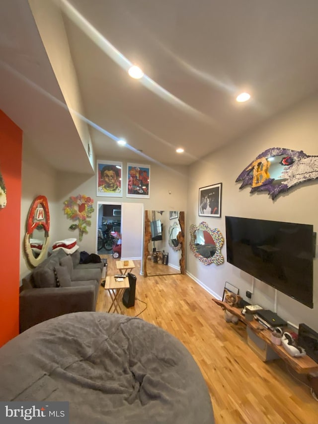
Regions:
<instances>
[{"instance_id":1,"label":"bright orange wall section at the left edge","mask_svg":"<svg viewBox=\"0 0 318 424\"><path fill-rule=\"evenodd\" d=\"M22 130L0 110L0 171L6 206L0 208L0 346L19 333Z\"/></svg>"}]
</instances>

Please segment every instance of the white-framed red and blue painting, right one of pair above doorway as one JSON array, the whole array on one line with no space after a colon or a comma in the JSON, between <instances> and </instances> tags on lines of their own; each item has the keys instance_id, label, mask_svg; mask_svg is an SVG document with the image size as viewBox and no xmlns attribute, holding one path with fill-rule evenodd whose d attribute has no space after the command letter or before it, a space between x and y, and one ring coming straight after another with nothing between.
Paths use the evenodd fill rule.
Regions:
<instances>
[{"instance_id":1,"label":"white-framed red and blue painting, right one of pair above doorway","mask_svg":"<svg viewBox=\"0 0 318 424\"><path fill-rule=\"evenodd\" d=\"M150 198L150 166L127 164L127 197Z\"/></svg>"}]
</instances>

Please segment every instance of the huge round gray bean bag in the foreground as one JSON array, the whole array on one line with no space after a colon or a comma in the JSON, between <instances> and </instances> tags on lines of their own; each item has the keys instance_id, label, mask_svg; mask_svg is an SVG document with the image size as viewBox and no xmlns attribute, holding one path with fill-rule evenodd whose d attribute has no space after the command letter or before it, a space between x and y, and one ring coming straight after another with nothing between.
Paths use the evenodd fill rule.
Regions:
<instances>
[{"instance_id":1,"label":"huge round gray bean bag in the foreground","mask_svg":"<svg viewBox=\"0 0 318 424\"><path fill-rule=\"evenodd\" d=\"M0 348L0 401L68 401L72 424L212 424L184 345L139 318L78 312Z\"/></svg>"}]
</instances>

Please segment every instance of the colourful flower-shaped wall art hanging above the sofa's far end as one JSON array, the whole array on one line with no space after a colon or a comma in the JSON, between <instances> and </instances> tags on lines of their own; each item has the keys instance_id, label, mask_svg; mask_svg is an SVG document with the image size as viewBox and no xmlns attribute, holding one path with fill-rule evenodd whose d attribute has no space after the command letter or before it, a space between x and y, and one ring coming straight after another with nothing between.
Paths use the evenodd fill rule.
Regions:
<instances>
[{"instance_id":1,"label":"colourful flower-shaped wall art hanging above the sofa's far end","mask_svg":"<svg viewBox=\"0 0 318 424\"><path fill-rule=\"evenodd\" d=\"M79 241L82 240L83 234L88 234L87 227L90 227L91 221L88 218L94 212L94 200L84 194L71 196L64 202L64 213L72 221L78 221L77 224L72 224L69 230L79 229Z\"/></svg>"}]
</instances>

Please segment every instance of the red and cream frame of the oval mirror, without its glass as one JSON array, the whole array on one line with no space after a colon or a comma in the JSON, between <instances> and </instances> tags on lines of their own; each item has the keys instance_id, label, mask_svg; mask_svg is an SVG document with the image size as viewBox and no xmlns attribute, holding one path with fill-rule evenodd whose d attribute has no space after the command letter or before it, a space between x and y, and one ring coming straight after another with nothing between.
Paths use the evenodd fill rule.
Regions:
<instances>
[{"instance_id":1,"label":"red and cream frame of the oval mirror, without its glass","mask_svg":"<svg viewBox=\"0 0 318 424\"><path fill-rule=\"evenodd\" d=\"M35 257L31 248L31 238L37 227L43 227L45 240L41 253ZM28 261L31 265L37 266L45 258L49 248L50 211L48 199L45 196L38 196L34 199L27 218L27 229L24 237L24 248Z\"/></svg>"}]
</instances>

